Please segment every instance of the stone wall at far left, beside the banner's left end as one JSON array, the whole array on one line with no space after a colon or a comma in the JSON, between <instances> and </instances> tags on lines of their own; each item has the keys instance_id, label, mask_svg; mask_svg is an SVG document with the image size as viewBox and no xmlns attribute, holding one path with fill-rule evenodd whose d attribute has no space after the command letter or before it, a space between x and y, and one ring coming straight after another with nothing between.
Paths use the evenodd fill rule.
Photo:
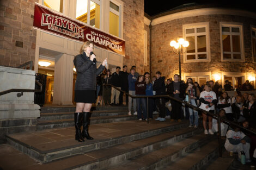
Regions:
<instances>
[{"instance_id":1,"label":"stone wall at far left, beside the banner's left end","mask_svg":"<svg viewBox=\"0 0 256 170\"><path fill-rule=\"evenodd\" d=\"M0 1L0 65L16 67L35 60L34 4L38 0Z\"/></svg>"}]
</instances>

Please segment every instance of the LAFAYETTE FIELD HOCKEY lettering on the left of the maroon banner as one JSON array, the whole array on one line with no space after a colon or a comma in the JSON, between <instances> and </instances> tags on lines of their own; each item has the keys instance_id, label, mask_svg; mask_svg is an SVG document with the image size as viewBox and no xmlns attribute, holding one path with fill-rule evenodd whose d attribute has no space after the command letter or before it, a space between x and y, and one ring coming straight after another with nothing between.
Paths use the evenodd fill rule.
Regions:
<instances>
[{"instance_id":1,"label":"LAFAYETTE FIELD HOCKEY lettering on the left of the maroon banner","mask_svg":"<svg viewBox=\"0 0 256 170\"><path fill-rule=\"evenodd\" d=\"M48 26L48 29L76 37L79 39L80 37L83 39L83 29L77 24L65 20L65 18L57 17L50 14L42 14L41 18L41 26ZM64 28L64 29L63 29Z\"/></svg>"}]
</instances>

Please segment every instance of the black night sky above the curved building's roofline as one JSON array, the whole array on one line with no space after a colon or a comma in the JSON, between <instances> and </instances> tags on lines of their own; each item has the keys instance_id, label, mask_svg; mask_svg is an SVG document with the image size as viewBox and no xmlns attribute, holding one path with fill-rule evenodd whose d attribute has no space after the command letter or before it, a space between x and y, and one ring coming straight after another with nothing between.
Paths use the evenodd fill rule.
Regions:
<instances>
[{"instance_id":1,"label":"black night sky above the curved building's roofline","mask_svg":"<svg viewBox=\"0 0 256 170\"><path fill-rule=\"evenodd\" d=\"M144 11L150 16L159 14L163 11L167 11L169 9L178 7L182 4L187 3L197 3L197 4L217 4L222 7L228 7L228 8L237 8L237 9L246 9L256 12L255 5L252 4L253 1L249 0L240 0L240 1L231 1L231 0L144 0Z\"/></svg>"}]
</instances>

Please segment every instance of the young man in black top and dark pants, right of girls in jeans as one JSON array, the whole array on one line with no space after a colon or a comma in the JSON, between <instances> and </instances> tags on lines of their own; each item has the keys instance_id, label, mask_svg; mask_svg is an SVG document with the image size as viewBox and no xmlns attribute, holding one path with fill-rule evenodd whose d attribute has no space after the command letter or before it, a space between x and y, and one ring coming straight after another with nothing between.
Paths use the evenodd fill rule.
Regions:
<instances>
[{"instance_id":1,"label":"young man in black top and dark pants, right of girls in jeans","mask_svg":"<svg viewBox=\"0 0 256 170\"><path fill-rule=\"evenodd\" d=\"M156 96L162 96L166 95L166 87L164 84L164 79L165 77L161 77L161 72L157 71L156 72L156 80L153 85L153 90L156 91ZM164 98L156 98L156 105L159 108L159 117L156 118L157 121L165 121L166 119L165 114L165 101Z\"/></svg>"}]
</instances>

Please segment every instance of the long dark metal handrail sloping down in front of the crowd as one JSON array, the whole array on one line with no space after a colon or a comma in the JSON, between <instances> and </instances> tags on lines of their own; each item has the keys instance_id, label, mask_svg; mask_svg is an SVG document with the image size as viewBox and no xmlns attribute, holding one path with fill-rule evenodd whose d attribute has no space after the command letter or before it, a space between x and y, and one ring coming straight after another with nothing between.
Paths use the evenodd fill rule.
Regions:
<instances>
[{"instance_id":1,"label":"long dark metal handrail sloping down in front of the crowd","mask_svg":"<svg viewBox=\"0 0 256 170\"><path fill-rule=\"evenodd\" d=\"M193 108L193 109L196 109L196 110L200 110L200 111L202 111L202 112L204 112L206 115L210 115L212 118L215 118L215 119L217 119L218 120L218 129L219 129L219 133L218 133L218 145L219 145L219 154L220 154L220 157L222 157L222 142L221 142L221 122L224 122L224 123L227 123L227 124L231 124L231 125L234 125L235 127L237 127L237 128L240 128L240 129L242 129L242 130L246 130L246 131L248 131L249 133L251 133L251 134L253 134L253 135L256 135L256 132L255 131L253 131L253 130L250 130L250 129L246 129L246 128L244 128L244 127L242 127L241 125L239 125L239 124L237 124L237 123L235 123L235 122L232 122L232 121L229 121L228 119L225 119L225 118L222 118L222 117L220 117L219 115L217 115L217 114L212 114L211 112L209 112L209 111L206 111L206 110L203 110L203 109L200 109L200 108L198 108L197 106L193 106L193 105L191 105L191 104L189 104L189 103L187 103L187 102L183 102L182 100L179 100L179 99L176 99L176 98L174 98L174 97L172 97L172 96L169 96L169 95L162 95L162 96L132 96L132 95L130 95L129 93L127 93L126 91L123 91L123 90L120 90L120 89L118 89L116 86L114 86L114 85L112 85L112 84L103 84L103 86L112 86L114 89L116 89L116 90L118 90L118 91L120 91L120 92L123 92L123 93L125 93L125 95L128 95L129 97L131 97L131 98L147 98L147 107L148 107L148 98L169 98L169 99L172 99L172 100L175 100L176 102L180 102L180 103L183 103L183 104L185 104L186 106L188 106L188 107L190 107L190 108ZM102 89L104 89L104 88L102 88ZM103 96L103 92L102 92L102 96ZM149 111L148 111L148 108L147 108L147 114L148 114L148 117L149 117ZM149 118L148 118L148 120L147 120L147 122L149 123Z\"/></svg>"}]
</instances>

